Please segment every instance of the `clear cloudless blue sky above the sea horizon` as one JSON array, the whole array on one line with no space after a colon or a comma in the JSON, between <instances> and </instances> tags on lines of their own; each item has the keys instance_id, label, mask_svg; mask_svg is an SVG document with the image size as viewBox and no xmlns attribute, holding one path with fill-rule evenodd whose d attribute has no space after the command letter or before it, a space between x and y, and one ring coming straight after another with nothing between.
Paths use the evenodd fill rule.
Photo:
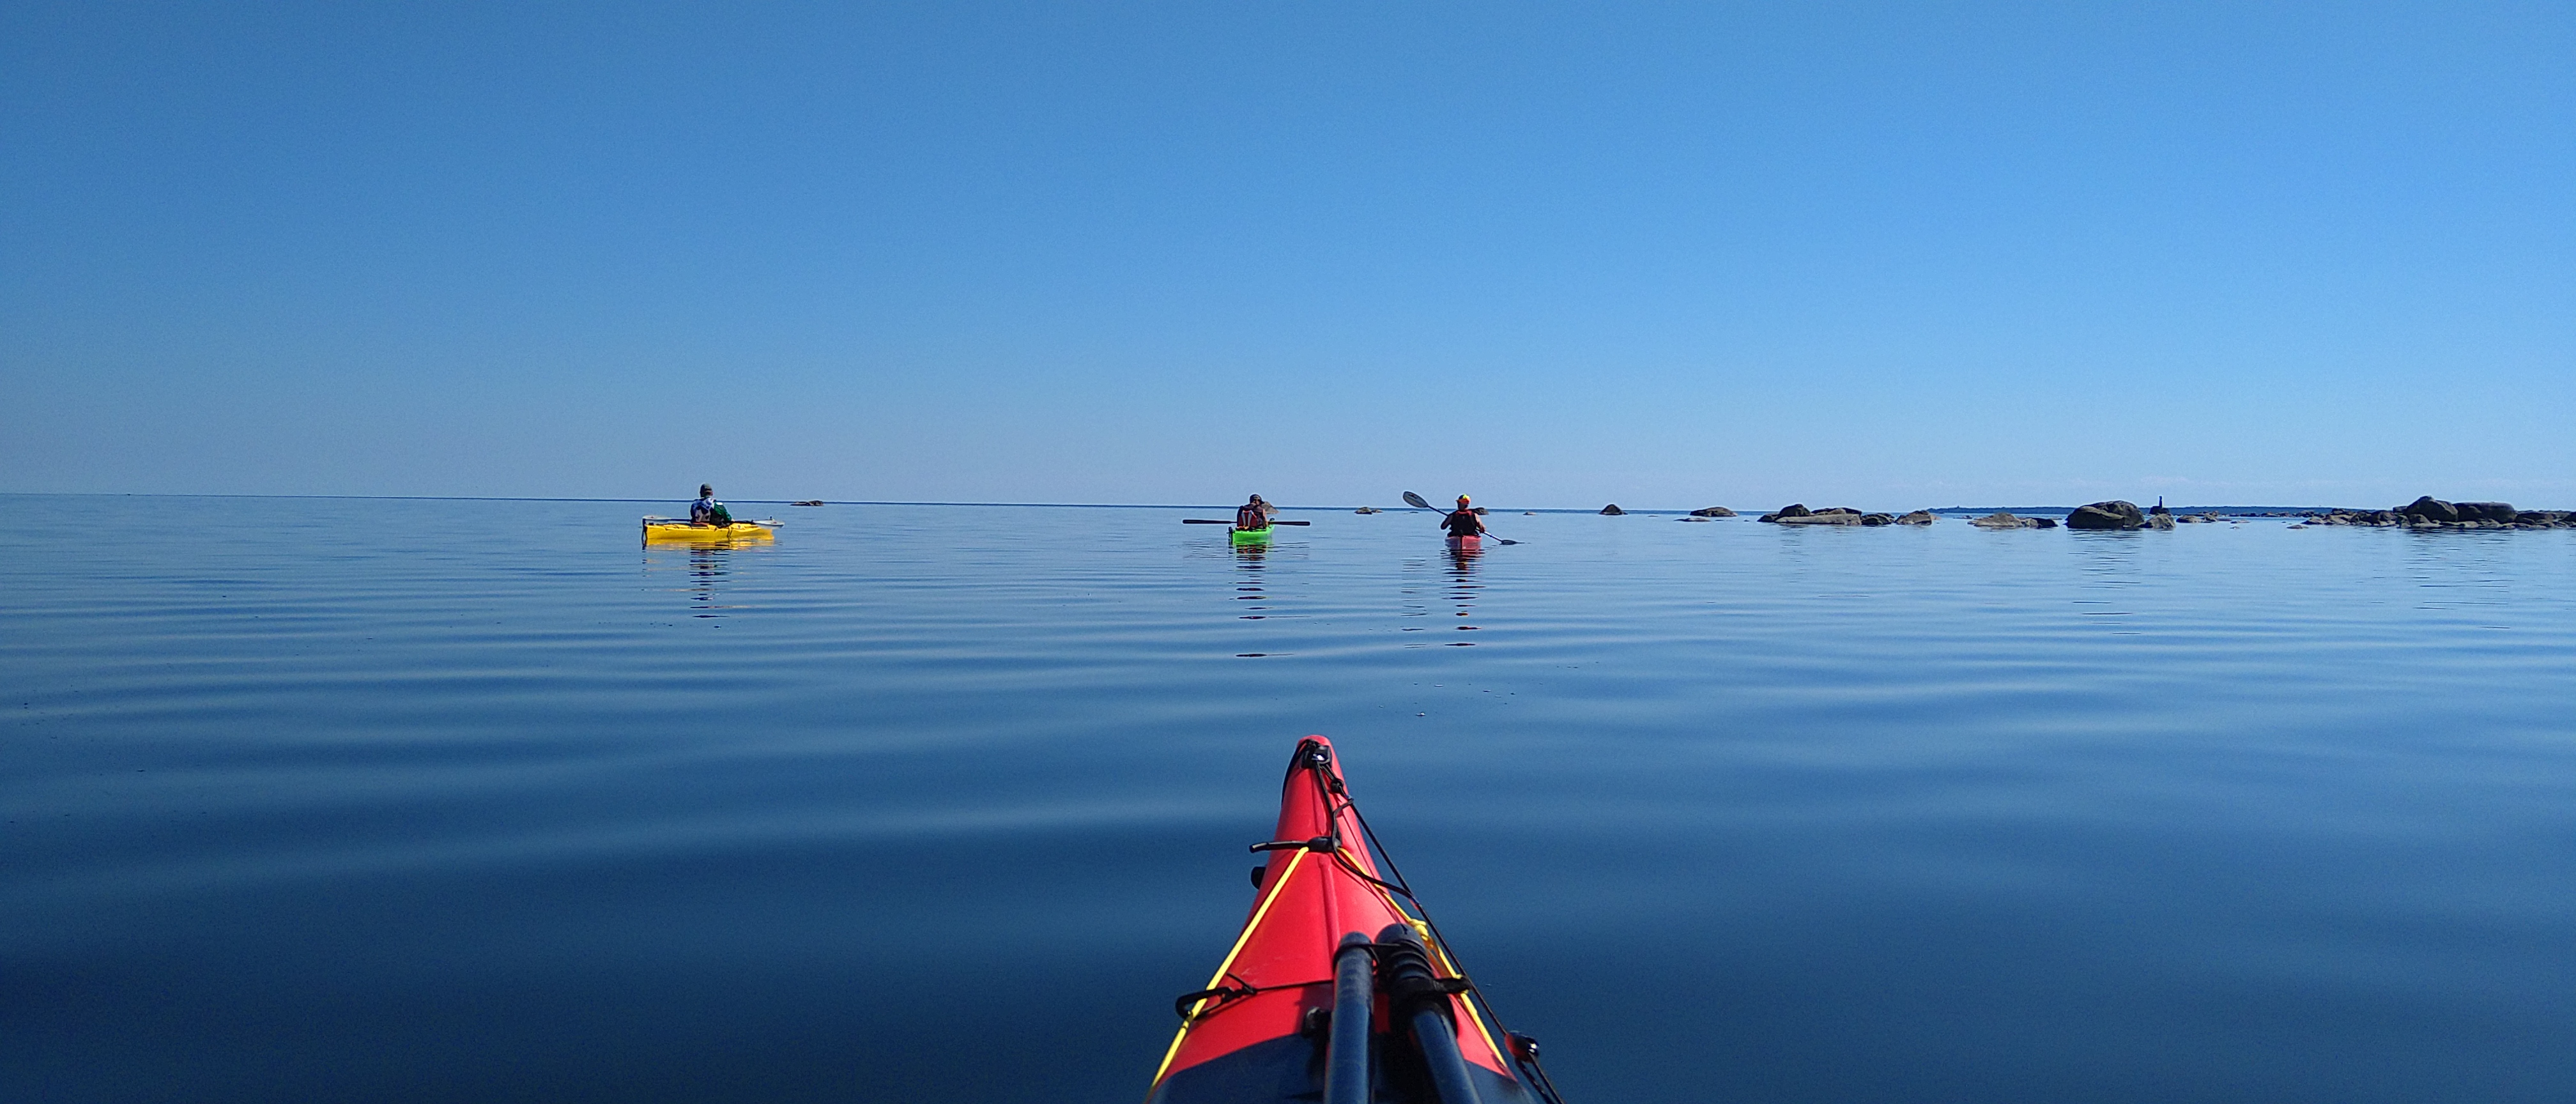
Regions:
<instances>
[{"instance_id":1,"label":"clear cloudless blue sky above the sea horizon","mask_svg":"<svg viewBox=\"0 0 2576 1104\"><path fill-rule=\"evenodd\" d=\"M2576 507L2568 5L5 5L21 492Z\"/></svg>"}]
</instances>

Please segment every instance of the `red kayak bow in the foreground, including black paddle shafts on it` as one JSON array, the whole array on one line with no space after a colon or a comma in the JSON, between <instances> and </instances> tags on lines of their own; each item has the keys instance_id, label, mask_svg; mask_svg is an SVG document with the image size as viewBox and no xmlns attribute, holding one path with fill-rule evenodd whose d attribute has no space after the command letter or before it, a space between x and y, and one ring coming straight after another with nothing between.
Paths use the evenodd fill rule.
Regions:
<instances>
[{"instance_id":1,"label":"red kayak bow in the foreground, including black paddle shafts on it","mask_svg":"<svg viewBox=\"0 0 2576 1104\"><path fill-rule=\"evenodd\" d=\"M1332 741L1298 741L1252 916L1146 1104L1564 1104L1376 844Z\"/></svg>"}]
</instances>

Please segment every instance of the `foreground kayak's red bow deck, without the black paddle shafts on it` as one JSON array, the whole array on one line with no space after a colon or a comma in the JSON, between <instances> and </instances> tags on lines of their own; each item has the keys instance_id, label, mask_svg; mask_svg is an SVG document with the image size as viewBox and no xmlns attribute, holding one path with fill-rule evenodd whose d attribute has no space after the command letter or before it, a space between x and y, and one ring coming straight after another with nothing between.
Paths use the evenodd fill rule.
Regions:
<instances>
[{"instance_id":1,"label":"foreground kayak's red bow deck, without the black paddle shafts on it","mask_svg":"<svg viewBox=\"0 0 2576 1104\"><path fill-rule=\"evenodd\" d=\"M1378 986L1370 1011L1370 1104L1553 1104L1535 1045L1510 1037L1473 993L1448 944L1422 916L1401 878L1381 875L1368 826L1350 803L1332 741L1306 736L1280 790L1280 821L1260 867L1260 890L1242 934L1218 962L1208 988L1180 998L1180 1035L1154 1073L1149 1104L1255 1104L1319 1101L1329 1014L1334 1009L1334 955L1345 937L1373 942L1370 957L1386 970L1391 950L1409 929L1427 944L1427 962L1445 1001L1445 1032L1466 1063L1476 1101L1448 1101L1425 1073L1425 1047L1409 1029L1391 1027L1388 996ZM1391 870L1391 867L1388 867ZM1388 942L1394 939L1394 942ZM1422 1004L1414 1006L1417 1011ZM1432 1058L1437 1060L1437 1058Z\"/></svg>"}]
</instances>

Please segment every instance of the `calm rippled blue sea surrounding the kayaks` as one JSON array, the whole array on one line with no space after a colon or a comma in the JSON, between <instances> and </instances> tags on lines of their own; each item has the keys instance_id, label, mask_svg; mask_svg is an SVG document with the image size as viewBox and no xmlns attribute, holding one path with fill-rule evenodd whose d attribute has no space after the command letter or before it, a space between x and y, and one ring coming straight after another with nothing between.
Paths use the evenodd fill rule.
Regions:
<instances>
[{"instance_id":1,"label":"calm rippled blue sea surrounding the kayaks","mask_svg":"<svg viewBox=\"0 0 2576 1104\"><path fill-rule=\"evenodd\" d=\"M0 1099L1131 1104L1301 733L1574 1104L2576 1099L2576 533L39 504Z\"/></svg>"}]
</instances>

